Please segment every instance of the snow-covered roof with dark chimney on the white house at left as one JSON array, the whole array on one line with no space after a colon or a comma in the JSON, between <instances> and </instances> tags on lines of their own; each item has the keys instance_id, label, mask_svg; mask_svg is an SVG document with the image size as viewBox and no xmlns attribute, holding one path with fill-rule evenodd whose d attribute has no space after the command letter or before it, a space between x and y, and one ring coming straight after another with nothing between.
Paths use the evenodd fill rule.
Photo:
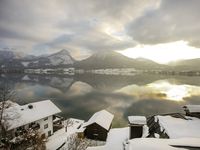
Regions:
<instances>
[{"instance_id":1,"label":"snow-covered roof with dark chimney on the white house at left","mask_svg":"<svg viewBox=\"0 0 200 150\"><path fill-rule=\"evenodd\" d=\"M18 105L4 110L2 123L6 130L11 130L59 112L61 110L50 100Z\"/></svg>"}]
</instances>

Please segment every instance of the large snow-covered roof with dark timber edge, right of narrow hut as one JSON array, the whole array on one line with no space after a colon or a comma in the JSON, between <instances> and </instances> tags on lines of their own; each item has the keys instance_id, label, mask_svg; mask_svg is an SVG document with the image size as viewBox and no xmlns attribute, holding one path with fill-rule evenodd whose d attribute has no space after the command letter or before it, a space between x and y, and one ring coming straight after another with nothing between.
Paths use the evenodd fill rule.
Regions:
<instances>
[{"instance_id":1,"label":"large snow-covered roof with dark timber edge, right of narrow hut","mask_svg":"<svg viewBox=\"0 0 200 150\"><path fill-rule=\"evenodd\" d=\"M200 119L185 116L177 118L171 115L154 116L154 123L149 126L150 137L159 138L200 138Z\"/></svg>"}]
</instances>

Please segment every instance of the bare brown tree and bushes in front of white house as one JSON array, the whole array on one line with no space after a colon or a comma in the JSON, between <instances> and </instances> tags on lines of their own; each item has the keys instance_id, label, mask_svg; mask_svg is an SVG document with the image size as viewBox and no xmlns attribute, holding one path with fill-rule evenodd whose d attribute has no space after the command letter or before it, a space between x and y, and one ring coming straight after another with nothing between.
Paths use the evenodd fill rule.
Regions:
<instances>
[{"instance_id":1,"label":"bare brown tree and bushes in front of white house","mask_svg":"<svg viewBox=\"0 0 200 150\"><path fill-rule=\"evenodd\" d=\"M4 116L5 109L12 107L16 100L16 93L7 84L0 87L0 149L3 150L21 150L30 148L32 150L44 150L45 141L42 139L38 130L31 128L23 130L22 134L16 137L10 137L6 129L6 120L11 119L10 116ZM16 112L18 117L18 113ZM31 117L31 116L30 116Z\"/></svg>"}]
</instances>

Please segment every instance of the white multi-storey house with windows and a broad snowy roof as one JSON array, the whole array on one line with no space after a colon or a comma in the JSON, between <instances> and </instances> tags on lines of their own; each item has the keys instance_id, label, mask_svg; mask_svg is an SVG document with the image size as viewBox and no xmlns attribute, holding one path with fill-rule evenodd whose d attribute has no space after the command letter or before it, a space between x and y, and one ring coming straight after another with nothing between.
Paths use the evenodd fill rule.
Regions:
<instances>
[{"instance_id":1,"label":"white multi-storey house with windows and a broad snowy roof","mask_svg":"<svg viewBox=\"0 0 200 150\"><path fill-rule=\"evenodd\" d=\"M12 136L20 135L28 128L38 130L43 137L53 134L53 115L61 110L50 100L15 105L3 112L2 123Z\"/></svg>"}]
</instances>

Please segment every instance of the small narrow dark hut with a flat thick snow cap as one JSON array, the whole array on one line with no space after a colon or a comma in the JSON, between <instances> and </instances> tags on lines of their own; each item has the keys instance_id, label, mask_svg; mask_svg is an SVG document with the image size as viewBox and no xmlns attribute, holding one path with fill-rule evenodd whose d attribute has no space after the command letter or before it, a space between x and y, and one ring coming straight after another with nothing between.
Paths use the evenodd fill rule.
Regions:
<instances>
[{"instance_id":1,"label":"small narrow dark hut with a flat thick snow cap","mask_svg":"<svg viewBox=\"0 0 200 150\"><path fill-rule=\"evenodd\" d=\"M129 121L129 139L141 138L143 135L143 128L147 124L144 116L128 116Z\"/></svg>"}]
</instances>

